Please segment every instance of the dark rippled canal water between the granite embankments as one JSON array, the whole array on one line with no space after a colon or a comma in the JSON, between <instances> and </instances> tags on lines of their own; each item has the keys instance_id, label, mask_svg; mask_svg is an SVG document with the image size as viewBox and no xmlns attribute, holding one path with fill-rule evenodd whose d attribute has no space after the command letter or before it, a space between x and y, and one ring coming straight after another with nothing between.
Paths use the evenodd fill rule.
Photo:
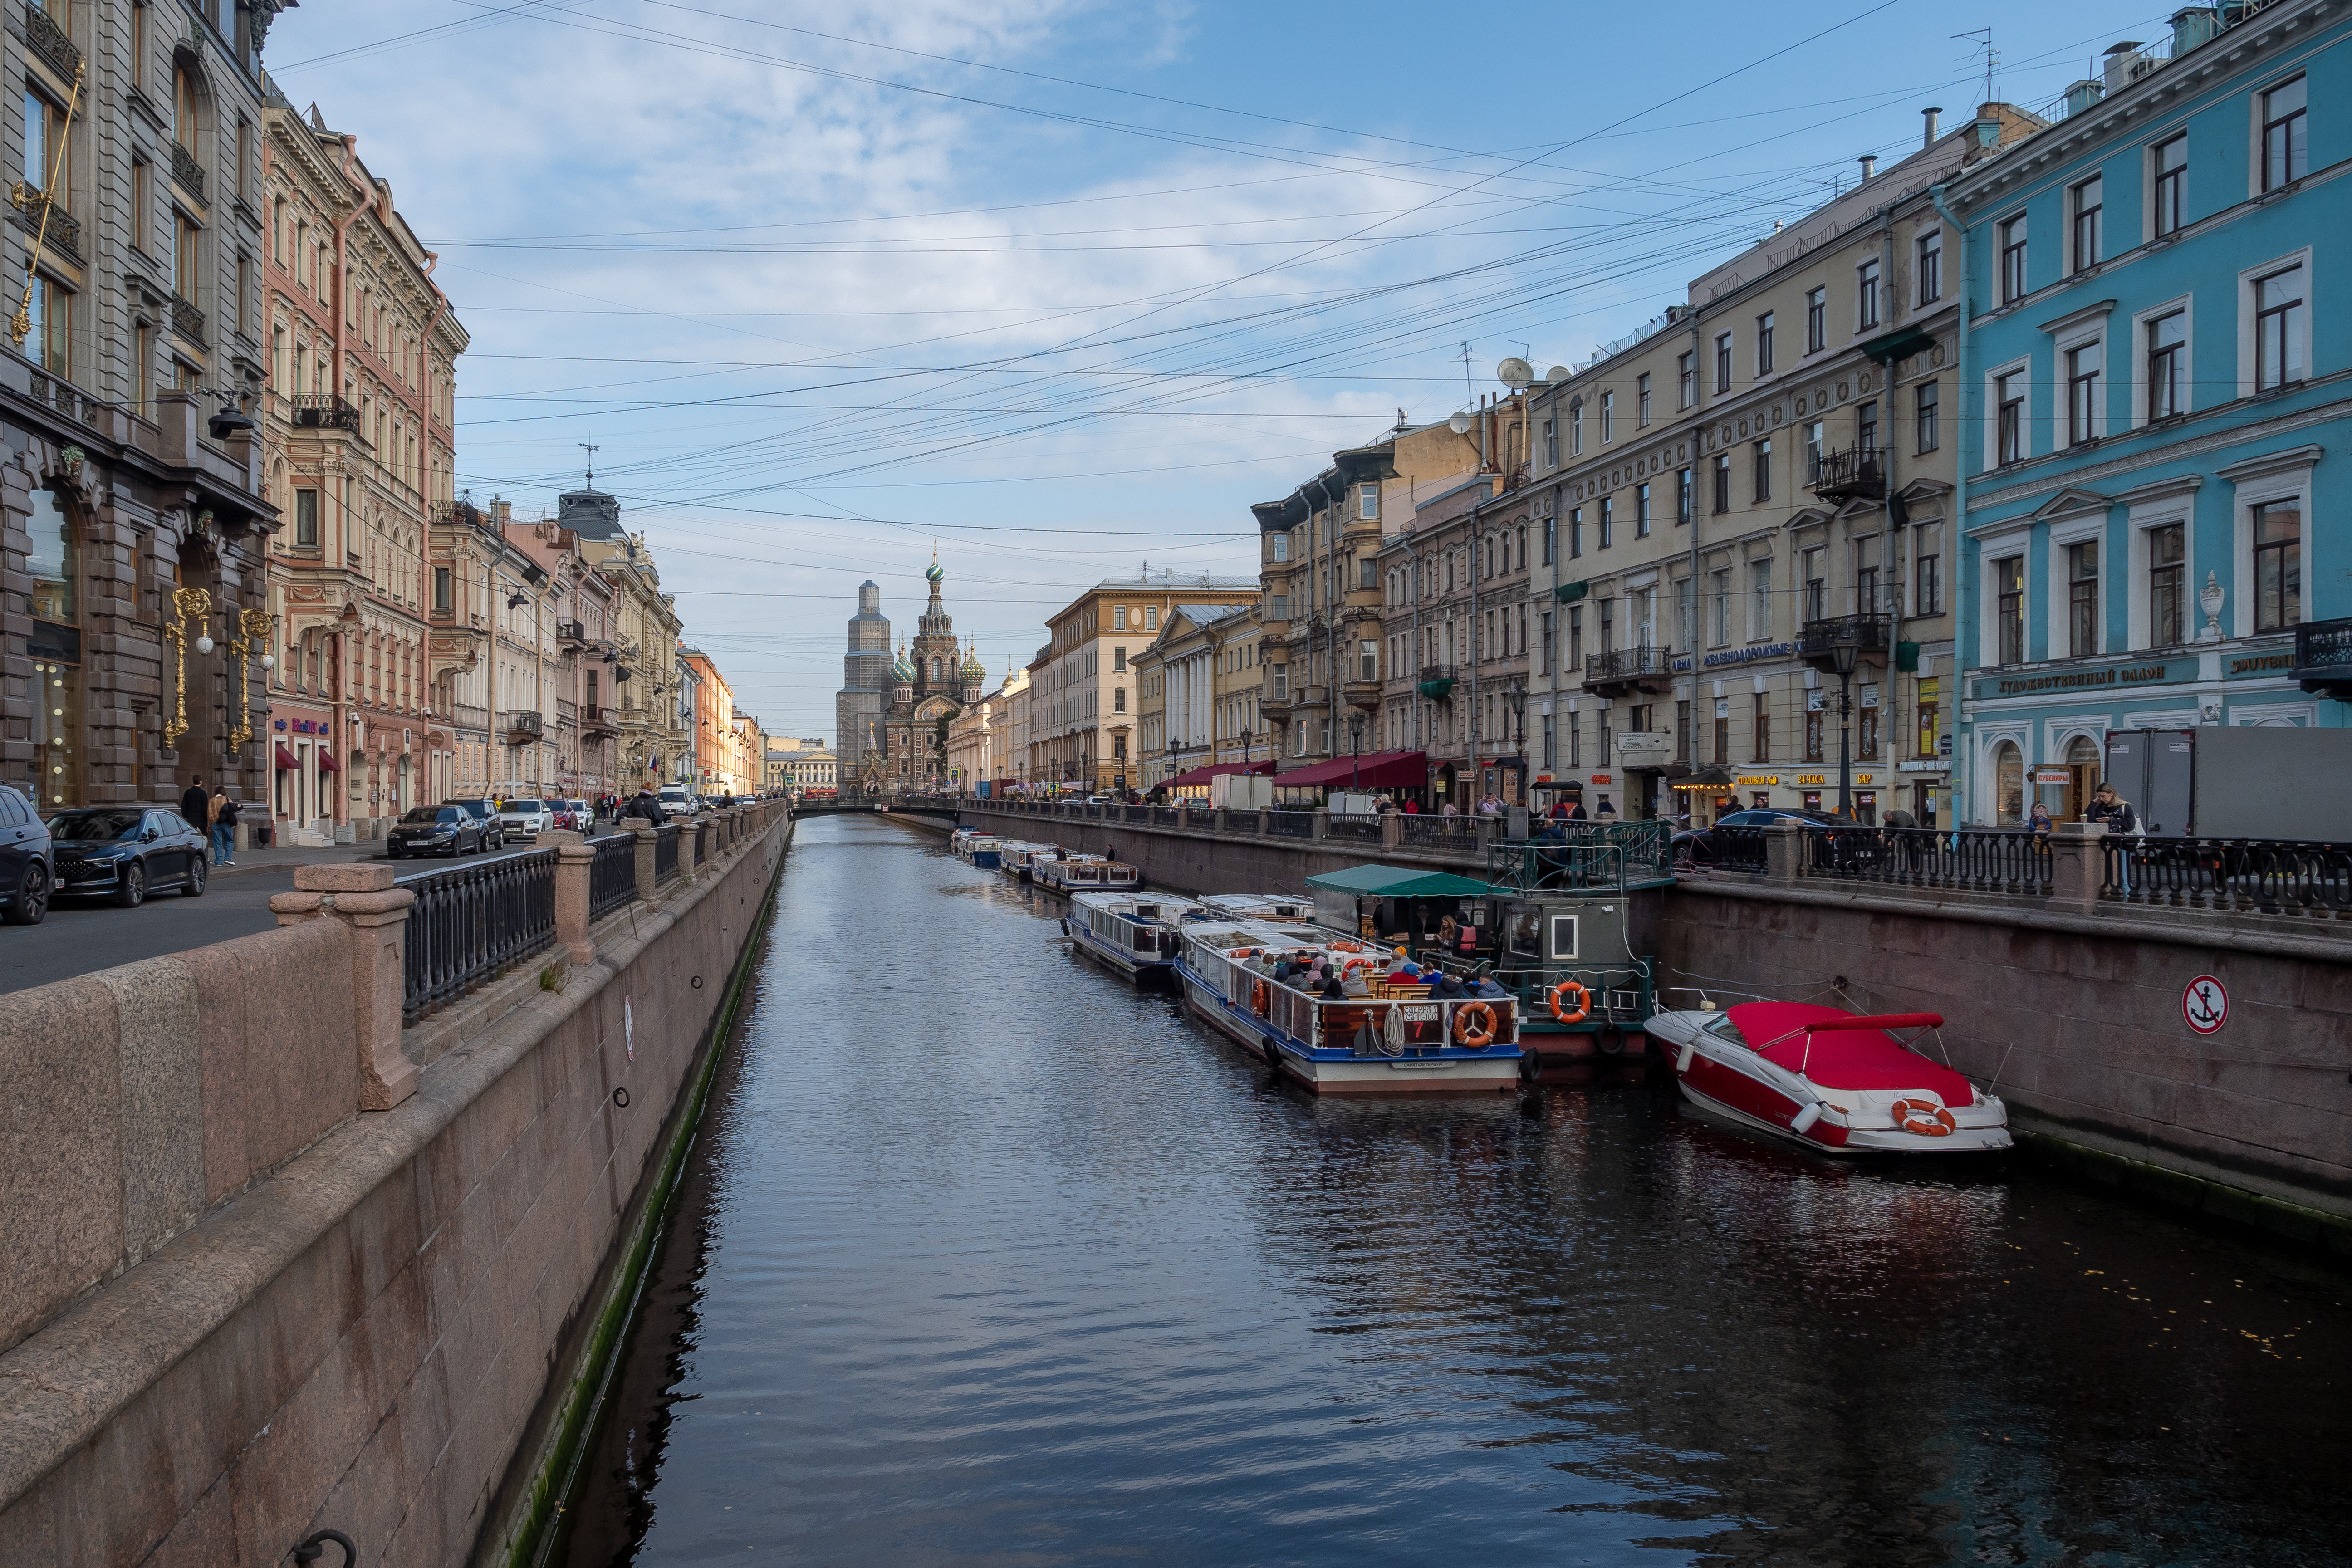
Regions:
<instances>
[{"instance_id":1,"label":"dark rippled canal water between the granite embankments","mask_svg":"<svg viewBox=\"0 0 2352 1568\"><path fill-rule=\"evenodd\" d=\"M1670 1086L1317 1103L1030 898L800 827L557 1561L2352 1561L2345 1274Z\"/></svg>"}]
</instances>

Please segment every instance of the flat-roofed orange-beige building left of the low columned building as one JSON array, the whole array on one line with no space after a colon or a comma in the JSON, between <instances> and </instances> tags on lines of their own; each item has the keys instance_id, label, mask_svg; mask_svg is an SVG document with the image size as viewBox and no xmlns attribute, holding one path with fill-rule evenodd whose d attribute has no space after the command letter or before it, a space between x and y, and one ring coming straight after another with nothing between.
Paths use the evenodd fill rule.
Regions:
<instances>
[{"instance_id":1,"label":"flat-roofed orange-beige building left of the low columned building","mask_svg":"<svg viewBox=\"0 0 2352 1568\"><path fill-rule=\"evenodd\" d=\"M1256 578L1150 571L1105 578L1054 614L1030 665L1028 783L1141 790L1134 656L1178 604L1249 607Z\"/></svg>"}]
</instances>

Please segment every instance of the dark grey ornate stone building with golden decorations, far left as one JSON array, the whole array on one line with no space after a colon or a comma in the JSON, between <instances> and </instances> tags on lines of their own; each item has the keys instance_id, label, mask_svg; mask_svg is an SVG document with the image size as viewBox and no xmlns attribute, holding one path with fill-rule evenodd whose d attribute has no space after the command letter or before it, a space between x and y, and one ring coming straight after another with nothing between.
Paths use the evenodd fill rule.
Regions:
<instances>
[{"instance_id":1,"label":"dark grey ornate stone building with golden decorations, far left","mask_svg":"<svg viewBox=\"0 0 2352 1568\"><path fill-rule=\"evenodd\" d=\"M278 517L247 411L278 9L33 5L0 38L26 174L0 228L0 773L42 809L191 773L266 797Z\"/></svg>"}]
</instances>

